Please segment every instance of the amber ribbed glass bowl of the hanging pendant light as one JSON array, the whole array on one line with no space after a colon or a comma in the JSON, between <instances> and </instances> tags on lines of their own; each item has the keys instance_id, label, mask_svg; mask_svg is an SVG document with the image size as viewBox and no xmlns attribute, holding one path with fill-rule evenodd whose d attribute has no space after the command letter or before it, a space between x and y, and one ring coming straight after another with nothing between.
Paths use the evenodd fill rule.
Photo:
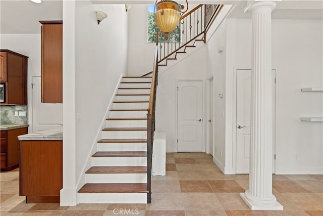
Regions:
<instances>
[{"instance_id":1,"label":"amber ribbed glass bowl of the hanging pendant light","mask_svg":"<svg viewBox=\"0 0 323 216\"><path fill-rule=\"evenodd\" d=\"M174 1L161 1L156 4L155 22L161 32L168 34L172 32L178 25L181 15L179 5Z\"/></svg>"}]
</instances>

